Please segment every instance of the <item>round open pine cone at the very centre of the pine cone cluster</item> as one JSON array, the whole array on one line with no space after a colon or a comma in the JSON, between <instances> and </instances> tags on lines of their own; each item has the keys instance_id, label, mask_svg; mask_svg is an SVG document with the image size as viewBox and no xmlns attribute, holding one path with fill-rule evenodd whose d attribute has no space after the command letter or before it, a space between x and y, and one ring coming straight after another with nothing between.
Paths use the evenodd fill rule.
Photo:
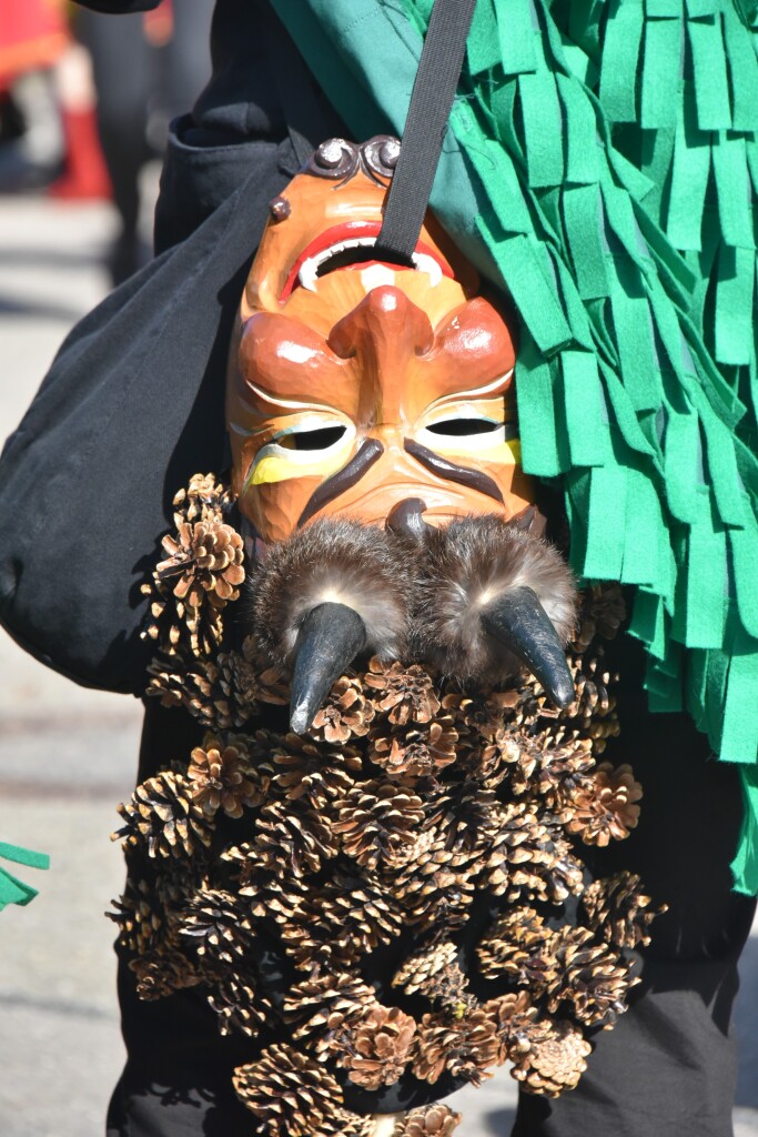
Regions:
<instances>
[{"instance_id":1,"label":"round open pine cone at the very centre of the pine cone cluster","mask_svg":"<svg viewBox=\"0 0 758 1137\"><path fill-rule=\"evenodd\" d=\"M360 782L335 805L338 833L343 852L373 872L380 863L393 865L408 857L424 819L422 799L415 794L377 780Z\"/></svg>"}]
</instances>

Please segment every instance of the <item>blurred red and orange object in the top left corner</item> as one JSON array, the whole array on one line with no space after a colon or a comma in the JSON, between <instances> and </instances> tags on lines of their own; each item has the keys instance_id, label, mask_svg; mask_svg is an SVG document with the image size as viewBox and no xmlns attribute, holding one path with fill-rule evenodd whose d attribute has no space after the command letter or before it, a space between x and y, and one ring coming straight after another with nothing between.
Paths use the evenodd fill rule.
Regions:
<instances>
[{"instance_id":1,"label":"blurred red and orange object in the top left corner","mask_svg":"<svg viewBox=\"0 0 758 1137\"><path fill-rule=\"evenodd\" d=\"M68 42L61 0L0 0L0 88L50 67Z\"/></svg>"}]
</instances>

